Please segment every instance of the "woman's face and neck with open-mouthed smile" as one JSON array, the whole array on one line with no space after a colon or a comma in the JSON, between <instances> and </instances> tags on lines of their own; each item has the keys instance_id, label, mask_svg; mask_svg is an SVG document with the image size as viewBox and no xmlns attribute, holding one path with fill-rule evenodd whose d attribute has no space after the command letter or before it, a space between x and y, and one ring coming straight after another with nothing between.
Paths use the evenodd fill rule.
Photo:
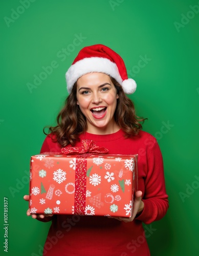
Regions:
<instances>
[{"instance_id":1,"label":"woman's face and neck with open-mouthed smile","mask_svg":"<svg viewBox=\"0 0 199 256\"><path fill-rule=\"evenodd\" d=\"M77 80L77 104L86 118L87 132L111 134L119 130L114 113L118 94L110 77L89 73Z\"/></svg>"}]
</instances>

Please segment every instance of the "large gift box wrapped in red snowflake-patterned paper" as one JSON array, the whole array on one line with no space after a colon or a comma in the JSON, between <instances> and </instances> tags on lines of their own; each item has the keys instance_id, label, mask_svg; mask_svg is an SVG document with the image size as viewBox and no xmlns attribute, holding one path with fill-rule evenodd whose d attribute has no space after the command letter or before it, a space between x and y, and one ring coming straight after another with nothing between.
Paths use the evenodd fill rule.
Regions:
<instances>
[{"instance_id":1,"label":"large gift box wrapped in red snowflake-patterned paper","mask_svg":"<svg viewBox=\"0 0 199 256\"><path fill-rule=\"evenodd\" d=\"M62 153L31 157L31 214L131 217L137 155L98 154L100 150L77 147L63 148Z\"/></svg>"}]
</instances>

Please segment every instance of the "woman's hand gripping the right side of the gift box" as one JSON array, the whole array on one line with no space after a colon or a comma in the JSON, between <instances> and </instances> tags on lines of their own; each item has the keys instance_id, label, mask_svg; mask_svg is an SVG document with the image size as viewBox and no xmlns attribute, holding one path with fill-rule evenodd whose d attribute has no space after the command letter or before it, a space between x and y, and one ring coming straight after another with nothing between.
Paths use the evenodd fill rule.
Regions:
<instances>
[{"instance_id":1,"label":"woman's hand gripping the right side of the gift box","mask_svg":"<svg viewBox=\"0 0 199 256\"><path fill-rule=\"evenodd\" d=\"M125 218L125 217L108 217L108 218L114 218L116 220L124 221L124 222L131 222L135 219L137 214L141 214L143 209L144 209L144 202L142 201L142 191L138 190L135 193L134 208L132 209L132 216L130 218Z\"/></svg>"}]
</instances>

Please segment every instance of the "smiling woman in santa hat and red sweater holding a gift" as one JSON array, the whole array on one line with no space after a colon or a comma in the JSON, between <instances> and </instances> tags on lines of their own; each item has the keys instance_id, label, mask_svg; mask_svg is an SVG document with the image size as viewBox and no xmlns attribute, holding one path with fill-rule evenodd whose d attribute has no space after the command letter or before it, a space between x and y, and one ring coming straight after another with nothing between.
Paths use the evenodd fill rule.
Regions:
<instances>
[{"instance_id":1,"label":"smiling woman in santa hat and red sweater holding a gift","mask_svg":"<svg viewBox=\"0 0 199 256\"><path fill-rule=\"evenodd\" d=\"M32 214L43 222L52 220L43 255L150 255L142 222L163 218L168 196L158 143L141 131L144 119L138 119L125 95L135 92L136 82L127 78L122 58L103 45L84 47L66 77L69 96L41 153L91 139L108 154L138 154L139 190L131 218Z\"/></svg>"}]
</instances>

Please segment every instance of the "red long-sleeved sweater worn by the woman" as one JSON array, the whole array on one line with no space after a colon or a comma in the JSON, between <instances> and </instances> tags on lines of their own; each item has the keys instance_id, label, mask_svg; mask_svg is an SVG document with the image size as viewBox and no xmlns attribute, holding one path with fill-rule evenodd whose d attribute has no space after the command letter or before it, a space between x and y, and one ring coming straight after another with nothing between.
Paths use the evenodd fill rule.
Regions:
<instances>
[{"instance_id":1,"label":"red long-sleeved sweater worn by the woman","mask_svg":"<svg viewBox=\"0 0 199 256\"><path fill-rule=\"evenodd\" d=\"M142 222L160 220L168 209L162 154L154 137L141 131L138 136L124 138L122 130L110 135L85 133L80 139L91 139L108 148L108 154L138 154L138 189L143 193L144 209L132 222L97 216L54 215L43 255L127 256L150 255ZM76 144L80 146L80 142ZM61 146L47 136L43 152L60 152ZM150 230L146 231L146 237Z\"/></svg>"}]
</instances>

